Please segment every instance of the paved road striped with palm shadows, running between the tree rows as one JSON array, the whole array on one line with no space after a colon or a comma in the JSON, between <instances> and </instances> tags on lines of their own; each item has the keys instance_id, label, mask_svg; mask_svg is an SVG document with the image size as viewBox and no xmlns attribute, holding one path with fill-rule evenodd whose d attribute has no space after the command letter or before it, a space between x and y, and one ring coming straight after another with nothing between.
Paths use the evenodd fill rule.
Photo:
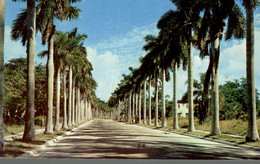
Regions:
<instances>
[{"instance_id":1,"label":"paved road striped with palm shadows, running between the tree rows","mask_svg":"<svg viewBox=\"0 0 260 164\"><path fill-rule=\"evenodd\" d=\"M260 152L112 120L92 120L33 158L260 159Z\"/></svg>"}]
</instances>

